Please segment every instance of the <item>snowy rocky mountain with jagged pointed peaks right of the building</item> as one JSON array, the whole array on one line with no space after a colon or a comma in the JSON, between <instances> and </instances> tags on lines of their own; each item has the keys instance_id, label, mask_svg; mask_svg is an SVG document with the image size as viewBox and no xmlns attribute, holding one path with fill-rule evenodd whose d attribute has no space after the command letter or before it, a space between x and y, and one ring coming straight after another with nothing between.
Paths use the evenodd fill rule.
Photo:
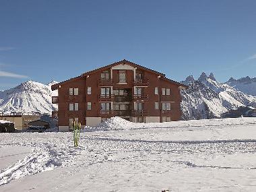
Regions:
<instances>
[{"instance_id":1,"label":"snowy rocky mountain with jagged pointed peaks right of the building","mask_svg":"<svg viewBox=\"0 0 256 192\"><path fill-rule=\"evenodd\" d=\"M256 96L218 82L213 73L209 76L201 73L198 79L190 75L182 83L189 85L187 90L181 91L181 108L186 120L220 118L239 106L256 106Z\"/></svg>"}]
</instances>

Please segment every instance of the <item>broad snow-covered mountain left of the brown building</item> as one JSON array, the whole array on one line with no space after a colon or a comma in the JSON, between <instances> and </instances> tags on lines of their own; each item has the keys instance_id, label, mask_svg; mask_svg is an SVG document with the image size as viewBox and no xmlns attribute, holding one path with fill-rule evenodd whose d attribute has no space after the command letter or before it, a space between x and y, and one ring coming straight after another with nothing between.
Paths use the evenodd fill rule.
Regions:
<instances>
[{"instance_id":1,"label":"broad snow-covered mountain left of the brown building","mask_svg":"<svg viewBox=\"0 0 256 192\"><path fill-rule=\"evenodd\" d=\"M0 92L0 111L4 114L51 114L56 106L52 104L51 85L38 82L24 82L15 88Z\"/></svg>"}]
</instances>

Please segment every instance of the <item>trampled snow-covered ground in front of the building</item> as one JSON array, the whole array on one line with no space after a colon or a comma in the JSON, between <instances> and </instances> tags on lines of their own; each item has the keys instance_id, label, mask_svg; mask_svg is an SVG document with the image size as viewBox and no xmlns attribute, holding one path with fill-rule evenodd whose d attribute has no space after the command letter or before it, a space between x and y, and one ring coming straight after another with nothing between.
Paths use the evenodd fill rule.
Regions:
<instances>
[{"instance_id":1,"label":"trampled snow-covered ground in front of the building","mask_svg":"<svg viewBox=\"0 0 256 192\"><path fill-rule=\"evenodd\" d=\"M256 118L113 118L87 127L78 148L72 136L1 133L0 191L256 191ZM23 155L11 166L8 148Z\"/></svg>"}]
</instances>

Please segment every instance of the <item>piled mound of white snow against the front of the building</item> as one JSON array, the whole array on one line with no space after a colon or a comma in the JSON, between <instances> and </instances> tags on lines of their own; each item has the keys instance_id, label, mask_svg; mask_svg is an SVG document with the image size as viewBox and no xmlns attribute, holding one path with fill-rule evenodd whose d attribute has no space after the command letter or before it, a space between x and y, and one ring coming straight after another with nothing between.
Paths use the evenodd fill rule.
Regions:
<instances>
[{"instance_id":1,"label":"piled mound of white snow against the front of the building","mask_svg":"<svg viewBox=\"0 0 256 192\"><path fill-rule=\"evenodd\" d=\"M100 123L94 128L102 130L131 129L134 123L127 121L121 117L110 117L106 121Z\"/></svg>"}]
</instances>

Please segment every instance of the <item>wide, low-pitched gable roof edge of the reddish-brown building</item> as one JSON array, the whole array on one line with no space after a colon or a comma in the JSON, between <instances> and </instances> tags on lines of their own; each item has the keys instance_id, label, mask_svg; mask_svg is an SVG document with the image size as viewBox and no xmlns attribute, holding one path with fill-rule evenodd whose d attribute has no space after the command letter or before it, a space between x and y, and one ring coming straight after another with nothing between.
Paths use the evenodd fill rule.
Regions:
<instances>
[{"instance_id":1,"label":"wide, low-pitched gable roof edge of the reddish-brown building","mask_svg":"<svg viewBox=\"0 0 256 192\"><path fill-rule=\"evenodd\" d=\"M133 62L131 62L131 61L127 61L127 60L125 60L125 59L123 59L122 61L117 61L117 62L112 63L112 64L110 64L110 65L106 65L106 66L104 66L104 67L100 67L100 68L94 69L94 70L92 70L92 71L88 71L88 72L86 72L86 73L82 73L82 75L79 75L79 76L77 76L77 77L74 77L74 78L71 78L71 79L67 79L67 80L65 80L64 82L60 82L59 84L54 84L53 86L51 86L51 88L52 88L52 90L57 90L57 88L58 88L61 84L64 84L65 82L70 82L70 81L73 81L73 80L78 79L78 78L86 77L86 75L90 75L90 74L96 73L96 72L98 72L98 71L103 71L103 70L109 69L110 67L114 67L114 66L120 65L120 64L131 65L131 66L133 66L133 67L137 67L137 68L139 68L139 69L143 69L143 70L148 71L148 72L150 72L150 73L155 73L155 74L157 74L157 75L160 75L160 77L162 77L164 80L167 80L168 82L170 82L170 83L172 83L172 84L177 84L177 85L179 85L179 86L182 86L182 87L184 87L184 88L187 88L187 86L185 86L184 84L181 84L181 83L179 83L179 82L175 82L175 81L173 81L173 80L171 80L171 79L166 78L164 73L160 73L160 72L155 71L155 70L153 70L153 69L149 69L149 68L147 68L147 67L143 67L143 66L141 66L141 65L137 65L136 63L133 63Z\"/></svg>"}]
</instances>

